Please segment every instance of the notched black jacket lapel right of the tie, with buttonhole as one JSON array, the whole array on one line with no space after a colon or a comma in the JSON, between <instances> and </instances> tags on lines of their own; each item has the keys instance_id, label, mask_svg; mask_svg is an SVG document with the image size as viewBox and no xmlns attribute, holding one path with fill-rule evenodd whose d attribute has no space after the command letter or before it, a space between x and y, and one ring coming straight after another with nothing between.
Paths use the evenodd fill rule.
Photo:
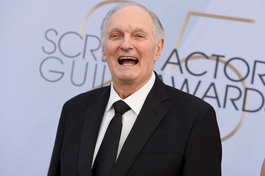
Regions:
<instances>
[{"instance_id":1,"label":"notched black jacket lapel right of the tie, with buttonhole","mask_svg":"<svg viewBox=\"0 0 265 176\"><path fill-rule=\"evenodd\" d=\"M168 111L161 104L166 99L168 99L168 94L165 84L156 74L155 84L149 92L133 128L125 140L112 170L112 176L126 175L149 137L167 114Z\"/></svg>"}]
</instances>

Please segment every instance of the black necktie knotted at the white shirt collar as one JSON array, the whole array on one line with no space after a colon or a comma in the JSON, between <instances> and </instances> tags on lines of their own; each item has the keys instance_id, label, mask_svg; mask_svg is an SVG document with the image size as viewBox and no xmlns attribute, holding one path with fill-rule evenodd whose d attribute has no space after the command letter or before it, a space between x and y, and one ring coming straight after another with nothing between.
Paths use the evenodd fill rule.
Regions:
<instances>
[{"instance_id":1,"label":"black necktie knotted at the white shirt collar","mask_svg":"<svg viewBox=\"0 0 265 176\"><path fill-rule=\"evenodd\" d=\"M97 152L92 167L93 176L109 176L114 167L121 137L122 114L131 108L122 100L113 103L115 115L109 122L108 129Z\"/></svg>"}]
</instances>

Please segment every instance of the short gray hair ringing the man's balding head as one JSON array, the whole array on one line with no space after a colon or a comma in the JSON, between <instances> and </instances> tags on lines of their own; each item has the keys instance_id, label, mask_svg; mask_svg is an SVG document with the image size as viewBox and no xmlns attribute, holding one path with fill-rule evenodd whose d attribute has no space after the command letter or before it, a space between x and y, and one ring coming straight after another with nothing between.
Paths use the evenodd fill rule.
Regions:
<instances>
[{"instance_id":1,"label":"short gray hair ringing the man's balding head","mask_svg":"<svg viewBox=\"0 0 265 176\"><path fill-rule=\"evenodd\" d=\"M122 9L124 7L127 7L127 6L137 6L137 7L144 9L146 12L149 13L149 15L153 21L153 33L155 36L156 44L158 44L162 39L165 38L164 28L163 28L160 20L158 19L158 17L156 16L155 13L153 13L152 11L148 10L146 7L140 5L136 2L119 2L112 9L109 10L109 12L107 13L107 15L105 16L105 18L103 19L103 21L101 23L101 27L100 27L100 29L101 29L101 44L103 44L104 40L105 40L105 34L107 31L107 23L109 21L109 18L117 10Z\"/></svg>"}]
</instances>

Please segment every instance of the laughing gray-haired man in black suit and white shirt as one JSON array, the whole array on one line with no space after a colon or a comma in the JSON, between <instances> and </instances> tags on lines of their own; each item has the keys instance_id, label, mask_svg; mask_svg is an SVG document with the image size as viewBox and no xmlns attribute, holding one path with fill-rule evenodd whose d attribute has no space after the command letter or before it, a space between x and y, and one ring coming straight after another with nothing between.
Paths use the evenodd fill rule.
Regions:
<instances>
[{"instance_id":1,"label":"laughing gray-haired man in black suit and white shirt","mask_svg":"<svg viewBox=\"0 0 265 176\"><path fill-rule=\"evenodd\" d=\"M153 71L164 45L156 15L136 3L119 3L101 24L101 43L112 84L65 103L48 175L221 175L214 109L165 85ZM113 137L121 135L114 162L105 171L100 164L112 147L104 154L102 148L118 100L130 110L122 115L121 134Z\"/></svg>"}]
</instances>

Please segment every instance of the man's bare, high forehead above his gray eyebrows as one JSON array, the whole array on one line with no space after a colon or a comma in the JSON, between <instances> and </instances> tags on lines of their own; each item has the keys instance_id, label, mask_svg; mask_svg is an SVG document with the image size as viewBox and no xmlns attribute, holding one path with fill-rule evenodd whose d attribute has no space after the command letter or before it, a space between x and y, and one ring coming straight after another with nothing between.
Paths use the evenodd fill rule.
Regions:
<instances>
[{"instance_id":1,"label":"man's bare, high forehead above his gray eyebrows","mask_svg":"<svg viewBox=\"0 0 265 176\"><path fill-rule=\"evenodd\" d=\"M107 28L152 29L152 18L148 12L137 6L127 6L117 10L109 18Z\"/></svg>"}]
</instances>

